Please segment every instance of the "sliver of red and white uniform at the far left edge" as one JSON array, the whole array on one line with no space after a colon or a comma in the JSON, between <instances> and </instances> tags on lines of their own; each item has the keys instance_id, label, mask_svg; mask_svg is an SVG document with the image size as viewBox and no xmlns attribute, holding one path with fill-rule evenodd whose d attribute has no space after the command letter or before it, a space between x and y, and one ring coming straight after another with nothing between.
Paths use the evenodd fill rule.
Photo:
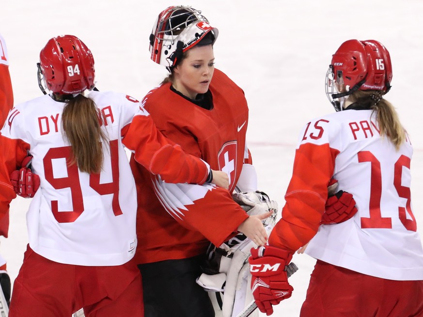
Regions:
<instances>
[{"instance_id":1,"label":"sliver of red and white uniform at the far left edge","mask_svg":"<svg viewBox=\"0 0 423 317\"><path fill-rule=\"evenodd\" d=\"M7 114L13 107L13 90L9 74L9 56L6 42L0 34L0 126L3 126ZM9 212L0 219L0 235L7 238L9 233ZM5 264L4 259L0 265Z\"/></svg>"}]
</instances>

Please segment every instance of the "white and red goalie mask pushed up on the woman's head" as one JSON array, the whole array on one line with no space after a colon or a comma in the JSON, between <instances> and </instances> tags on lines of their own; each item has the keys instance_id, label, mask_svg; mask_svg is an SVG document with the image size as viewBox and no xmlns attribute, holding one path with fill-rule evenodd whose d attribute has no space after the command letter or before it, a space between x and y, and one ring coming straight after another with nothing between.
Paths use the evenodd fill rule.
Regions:
<instances>
[{"instance_id":1,"label":"white and red goalie mask pushed up on the woman's head","mask_svg":"<svg viewBox=\"0 0 423 317\"><path fill-rule=\"evenodd\" d=\"M150 35L151 59L157 64L173 67L184 52L209 33L208 41L202 45L213 45L219 31L208 24L201 11L188 6L169 7L158 15Z\"/></svg>"}]
</instances>

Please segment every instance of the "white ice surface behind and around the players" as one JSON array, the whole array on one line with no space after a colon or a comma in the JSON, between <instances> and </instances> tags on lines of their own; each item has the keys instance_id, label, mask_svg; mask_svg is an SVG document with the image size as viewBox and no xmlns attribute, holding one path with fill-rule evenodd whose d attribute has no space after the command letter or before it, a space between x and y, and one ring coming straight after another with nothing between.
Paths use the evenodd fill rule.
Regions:
<instances>
[{"instance_id":1,"label":"white ice surface behind and around the players","mask_svg":"<svg viewBox=\"0 0 423 317\"><path fill-rule=\"evenodd\" d=\"M2 1L0 32L8 46L15 103L42 94L36 79L39 52L48 39L62 34L78 36L92 50L100 90L142 98L166 75L149 57L153 23L160 11L179 4L202 10L219 29L216 67L245 91L250 107L247 140L259 189L277 200L280 210L299 131L310 119L334 111L324 87L331 55L349 39L384 44L393 66L386 99L396 106L415 150L412 207L422 232L421 0ZM0 253L12 280L27 244L29 203L19 197L13 201L9 238L1 240ZM299 267L290 279L294 293L275 307L273 316L298 316L305 299L315 261L307 255L295 255L293 261Z\"/></svg>"}]
</instances>

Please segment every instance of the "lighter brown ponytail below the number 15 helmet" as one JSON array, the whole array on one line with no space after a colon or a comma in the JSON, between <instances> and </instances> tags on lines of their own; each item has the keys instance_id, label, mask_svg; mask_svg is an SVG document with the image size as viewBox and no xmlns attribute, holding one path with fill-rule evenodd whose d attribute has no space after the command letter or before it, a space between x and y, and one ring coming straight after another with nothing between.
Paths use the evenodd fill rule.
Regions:
<instances>
[{"instance_id":1,"label":"lighter brown ponytail below the number 15 helmet","mask_svg":"<svg viewBox=\"0 0 423 317\"><path fill-rule=\"evenodd\" d=\"M398 113L392 104L382 98L378 91L356 91L351 95L352 102L368 103L376 114L381 136L387 136L398 150L406 140L406 132L399 121Z\"/></svg>"}]
</instances>

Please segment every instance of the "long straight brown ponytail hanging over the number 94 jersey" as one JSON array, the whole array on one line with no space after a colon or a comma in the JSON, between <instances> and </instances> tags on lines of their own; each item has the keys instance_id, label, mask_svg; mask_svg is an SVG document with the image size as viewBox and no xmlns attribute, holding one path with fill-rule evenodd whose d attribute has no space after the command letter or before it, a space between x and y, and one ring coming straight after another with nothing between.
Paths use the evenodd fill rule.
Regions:
<instances>
[{"instance_id":1,"label":"long straight brown ponytail hanging over the number 94 jersey","mask_svg":"<svg viewBox=\"0 0 423 317\"><path fill-rule=\"evenodd\" d=\"M64 106L64 137L72 147L69 165L78 164L82 172L99 173L103 163L102 141L107 136L100 128L97 106L92 99L78 94Z\"/></svg>"}]
</instances>

